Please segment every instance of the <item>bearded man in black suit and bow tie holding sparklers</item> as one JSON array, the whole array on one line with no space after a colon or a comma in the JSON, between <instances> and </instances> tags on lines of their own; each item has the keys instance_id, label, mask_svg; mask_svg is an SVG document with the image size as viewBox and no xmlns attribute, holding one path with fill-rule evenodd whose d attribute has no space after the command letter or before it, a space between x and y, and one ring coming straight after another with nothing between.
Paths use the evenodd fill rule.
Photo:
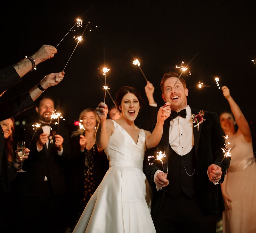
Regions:
<instances>
[{"instance_id":1,"label":"bearded man in black suit and bow tie holding sparklers","mask_svg":"<svg viewBox=\"0 0 256 233\"><path fill-rule=\"evenodd\" d=\"M67 180L66 166L70 156L70 142L64 122L54 124L51 114L54 100L43 96L35 108L40 127L26 127L22 134L30 145L30 156L24 161L26 172L19 174L20 202L23 211L19 227L33 231L63 232L66 219ZM35 131L36 130L36 131ZM27 224L24 224L27 223Z\"/></svg>"}]
</instances>

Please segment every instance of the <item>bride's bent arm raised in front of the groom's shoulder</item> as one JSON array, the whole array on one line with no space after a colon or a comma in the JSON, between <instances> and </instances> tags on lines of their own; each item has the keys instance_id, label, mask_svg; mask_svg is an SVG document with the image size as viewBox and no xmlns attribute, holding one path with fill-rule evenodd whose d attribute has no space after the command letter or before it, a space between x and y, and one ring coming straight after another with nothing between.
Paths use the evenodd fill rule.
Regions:
<instances>
[{"instance_id":1,"label":"bride's bent arm raised in front of the groom's shoulder","mask_svg":"<svg viewBox=\"0 0 256 233\"><path fill-rule=\"evenodd\" d=\"M164 120L171 114L170 103L166 102L163 107L160 107L157 113L156 126L152 133L145 131L146 133L146 148L150 149L158 145L163 134Z\"/></svg>"}]
</instances>

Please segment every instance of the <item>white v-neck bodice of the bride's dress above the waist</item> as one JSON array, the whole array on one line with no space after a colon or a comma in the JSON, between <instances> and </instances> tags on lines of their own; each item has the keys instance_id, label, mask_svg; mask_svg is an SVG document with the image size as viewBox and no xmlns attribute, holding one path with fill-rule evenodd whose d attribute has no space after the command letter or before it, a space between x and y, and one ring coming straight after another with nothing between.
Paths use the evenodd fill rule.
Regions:
<instances>
[{"instance_id":1,"label":"white v-neck bodice of the bride's dress above the waist","mask_svg":"<svg viewBox=\"0 0 256 233\"><path fill-rule=\"evenodd\" d=\"M143 129L140 129L137 144L130 134L114 120L114 132L110 136L107 148L104 150L107 154L110 166L131 166L142 169L144 153L146 150L146 135Z\"/></svg>"}]
</instances>

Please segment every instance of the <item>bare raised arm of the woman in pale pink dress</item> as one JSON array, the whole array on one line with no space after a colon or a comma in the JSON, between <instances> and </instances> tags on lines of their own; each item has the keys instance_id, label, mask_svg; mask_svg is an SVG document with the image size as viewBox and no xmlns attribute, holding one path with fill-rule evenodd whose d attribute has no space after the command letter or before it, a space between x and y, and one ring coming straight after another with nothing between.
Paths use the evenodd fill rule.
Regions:
<instances>
[{"instance_id":1,"label":"bare raised arm of the woman in pale pink dress","mask_svg":"<svg viewBox=\"0 0 256 233\"><path fill-rule=\"evenodd\" d=\"M236 104L234 99L231 97L229 89L226 86L222 87L223 96L227 99L231 112L235 117L235 121L238 125L239 130L242 132L246 141L250 142L252 140L251 130L247 120L245 119L241 109Z\"/></svg>"}]
</instances>

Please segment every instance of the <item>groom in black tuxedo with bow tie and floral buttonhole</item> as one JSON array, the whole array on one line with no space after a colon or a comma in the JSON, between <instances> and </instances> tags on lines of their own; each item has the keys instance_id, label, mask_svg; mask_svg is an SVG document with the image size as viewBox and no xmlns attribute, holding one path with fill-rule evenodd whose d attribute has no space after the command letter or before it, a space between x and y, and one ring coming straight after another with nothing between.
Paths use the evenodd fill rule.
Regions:
<instances>
[{"instance_id":1,"label":"groom in black tuxedo with bow tie and floral buttonhole","mask_svg":"<svg viewBox=\"0 0 256 233\"><path fill-rule=\"evenodd\" d=\"M164 122L160 143L146 154L166 154L163 166L157 160L145 165L153 190L151 215L157 233L214 233L217 213L224 210L219 181L223 182L230 159L221 162L224 138L216 113L190 108L185 80L178 77L169 72L161 80L171 116ZM200 123L193 123L191 116Z\"/></svg>"}]
</instances>

